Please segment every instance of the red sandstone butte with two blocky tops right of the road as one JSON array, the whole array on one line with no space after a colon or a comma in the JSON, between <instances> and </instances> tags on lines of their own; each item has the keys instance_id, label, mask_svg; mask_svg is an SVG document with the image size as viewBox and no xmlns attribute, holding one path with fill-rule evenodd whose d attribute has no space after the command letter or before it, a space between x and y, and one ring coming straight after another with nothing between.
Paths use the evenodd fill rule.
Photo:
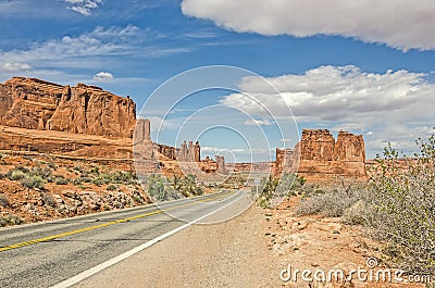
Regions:
<instances>
[{"instance_id":1,"label":"red sandstone butte with two blocky tops right of the road","mask_svg":"<svg viewBox=\"0 0 435 288\"><path fill-rule=\"evenodd\" d=\"M362 135L339 132L335 141L327 129L303 129L294 150L276 149L275 172L298 173L309 180L364 179L364 140Z\"/></svg>"}]
</instances>

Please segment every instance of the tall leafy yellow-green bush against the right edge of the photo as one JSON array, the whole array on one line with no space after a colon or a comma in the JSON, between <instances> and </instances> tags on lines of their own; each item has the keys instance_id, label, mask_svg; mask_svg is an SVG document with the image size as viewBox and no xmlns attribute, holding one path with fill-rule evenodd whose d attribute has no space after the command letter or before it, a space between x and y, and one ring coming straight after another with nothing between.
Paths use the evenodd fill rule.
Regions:
<instances>
[{"instance_id":1,"label":"tall leafy yellow-green bush against the right edge of the photo","mask_svg":"<svg viewBox=\"0 0 435 288\"><path fill-rule=\"evenodd\" d=\"M385 252L402 268L435 273L435 136L419 139L419 153L403 170L390 146L371 173L370 225L387 243Z\"/></svg>"}]
</instances>

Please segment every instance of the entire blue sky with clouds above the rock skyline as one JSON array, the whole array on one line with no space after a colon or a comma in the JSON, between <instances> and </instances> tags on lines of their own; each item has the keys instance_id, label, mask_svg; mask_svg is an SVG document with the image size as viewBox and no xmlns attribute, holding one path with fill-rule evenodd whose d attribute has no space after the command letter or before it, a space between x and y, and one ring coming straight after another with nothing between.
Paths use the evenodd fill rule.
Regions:
<instances>
[{"instance_id":1,"label":"entire blue sky with clouds above the rock skyline","mask_svg":"<svg viewBox=\"0 0 435 288\"><path fill-rule=\"evenodd\" d=\"M0 80L130 96L154 141L227 162L303 128L361 134L366 156L433 134L433 0L0 0Z\"/></svg>"}]
</instances>

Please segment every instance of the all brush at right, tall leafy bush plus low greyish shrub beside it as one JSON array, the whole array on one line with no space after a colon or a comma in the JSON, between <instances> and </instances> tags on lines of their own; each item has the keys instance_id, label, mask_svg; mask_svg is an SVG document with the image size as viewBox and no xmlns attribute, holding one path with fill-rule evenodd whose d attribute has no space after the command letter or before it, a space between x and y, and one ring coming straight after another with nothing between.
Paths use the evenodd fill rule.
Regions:
<instances>
[{"instance_id":1,"label":"all brush at right, tall leafy bush plus low greyish shrub beside it","mask_svg":"<svg viewBox=\"0 0 435 288\"><path fill-rule=\"evenodd\" d=\"M297 215L321 214L363 225L386 245L391 266L435 274L435 136L417 141L413 158L390 146L377 155L369 183L304 187Z\"/></svg>"}]
</instances>

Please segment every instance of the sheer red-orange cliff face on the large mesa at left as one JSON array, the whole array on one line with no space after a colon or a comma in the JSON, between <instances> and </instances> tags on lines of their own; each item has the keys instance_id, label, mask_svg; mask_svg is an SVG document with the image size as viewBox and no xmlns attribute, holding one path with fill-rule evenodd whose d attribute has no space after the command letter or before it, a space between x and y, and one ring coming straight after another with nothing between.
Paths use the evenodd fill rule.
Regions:
<instances>
[{"instance_id":1,"label":"sheer red-orange cliff face on the large mesa at left","mask_svg":"<svg viewBox=\"0 0 435 288\"><path fill-rule=\"evenodd\" d=\"M136 104L96 86L14 77L0 84L0 125L132 138Z\"/></svg>"}]
</instances>

